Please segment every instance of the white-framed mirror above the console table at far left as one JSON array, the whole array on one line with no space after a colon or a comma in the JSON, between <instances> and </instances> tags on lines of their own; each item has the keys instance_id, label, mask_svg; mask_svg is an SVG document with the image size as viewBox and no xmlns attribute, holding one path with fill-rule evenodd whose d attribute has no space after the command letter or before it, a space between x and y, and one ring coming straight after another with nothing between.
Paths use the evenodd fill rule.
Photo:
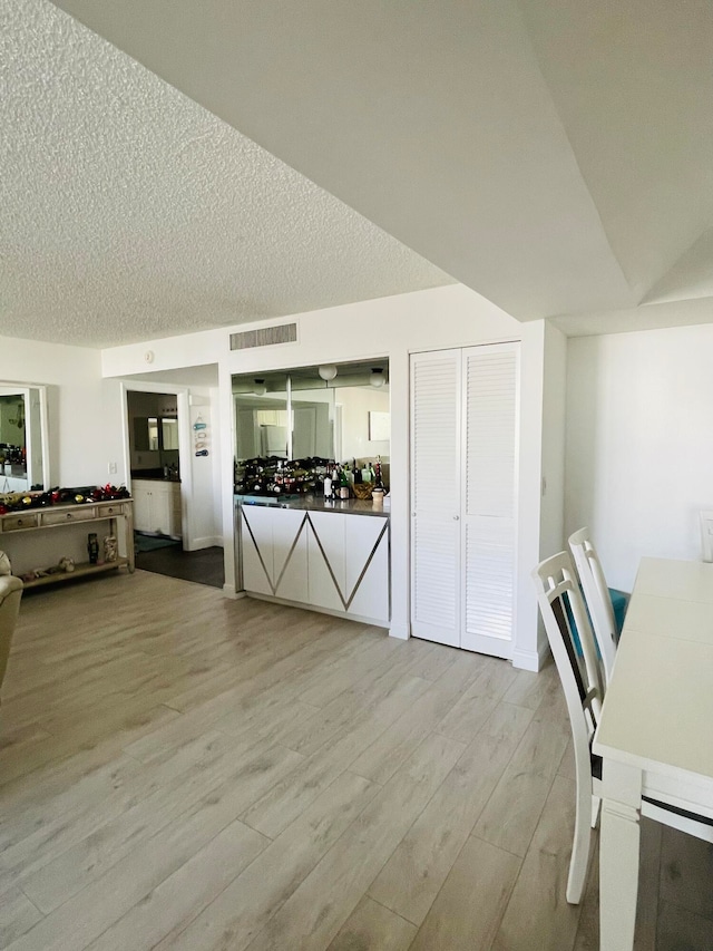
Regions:
<instances>
[{"instance_id":1,"label":"white-framed mirror above the console table at far left","mask_svg":"<svg viewBox=\"0 0 713 951\"><path fill-rule=\"evenodd\" d=\"M48 488L46 388L0 382L0 494Z\"/></svg>"}]
</instances>

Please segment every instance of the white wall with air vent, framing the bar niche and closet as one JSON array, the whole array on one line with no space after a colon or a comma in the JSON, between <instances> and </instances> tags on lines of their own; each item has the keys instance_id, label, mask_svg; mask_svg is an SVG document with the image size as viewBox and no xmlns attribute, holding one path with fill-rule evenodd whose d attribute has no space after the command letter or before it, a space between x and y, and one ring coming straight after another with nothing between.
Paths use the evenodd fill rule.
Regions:
<instances>
[{"instance_id":1,"label":"white wall with air vent, framing the bar niche and closet","mask_svg":"<svg viewBox=\"0 0 713 951\"><path fill-rule=\"evenodd\" d=\"M297 323L297 342L232 352L231 330L248 330L272 323ZM340 332L335 333L334 328ZM369 328L369 332L364 332ZM102 352L106 376L127 376L145 370L145 353L153 352L153 370L217 363L219 378L219 435L223 450L223 532L226 553L226 591L234 576L233 547L233 406L232 373L287 369L352 360L389 358L391 397L391 633L409 631L409 355L417 350L469 347L502 340L522 341L524 379L521 426L527 435L520 457L520 551L518 553L518 612L516 662L536 668L541 641L537 634L537 608L529 571L539 560L540 433L543 420L541 373L546 349L544 323L521 324L479 294L460 284L363 301L343 307L285 317L282 320L241 324L185 337L145 341ZM538 387L533 400L531 387ZM527 571L525 571L527 569Z\"/></svg>"}]
</instances>

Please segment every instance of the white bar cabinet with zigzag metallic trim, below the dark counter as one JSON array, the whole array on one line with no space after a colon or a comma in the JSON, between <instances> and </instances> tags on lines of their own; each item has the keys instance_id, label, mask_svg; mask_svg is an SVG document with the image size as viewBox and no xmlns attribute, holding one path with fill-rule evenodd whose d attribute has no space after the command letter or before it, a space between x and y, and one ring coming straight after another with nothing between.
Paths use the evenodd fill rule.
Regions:
<instances>
[{"instance_id":1,"label":"white bar cabinet with zigzag metallic trim, below the dark counter","mask_svg":"<svg viewBox=\"0 0 713 951\"><path fill-rule=\"evenodd\" d=\"M388 627L388 515L244 505L241 547L248 593Z\"/></svg>"}]
</instances>

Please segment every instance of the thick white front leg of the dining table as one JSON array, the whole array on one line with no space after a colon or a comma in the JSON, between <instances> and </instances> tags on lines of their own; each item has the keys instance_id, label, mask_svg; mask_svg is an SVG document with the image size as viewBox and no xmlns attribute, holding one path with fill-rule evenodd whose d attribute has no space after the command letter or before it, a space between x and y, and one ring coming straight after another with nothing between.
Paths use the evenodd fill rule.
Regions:
<instances>
[{"instance_id":1,"label":"thick white front leg of the dining table","mask_svg":"<svg viewBox=\"0 0 713 951\"><path fill-rule=\"evenodd\" d=\"M641 774L638 778L641 789ZM602 803L599 947L606 951L632 951L634 947L641 837L638 805L641 798L633 805L607 798L606 792Z\"/></svg>"}]
</instances>

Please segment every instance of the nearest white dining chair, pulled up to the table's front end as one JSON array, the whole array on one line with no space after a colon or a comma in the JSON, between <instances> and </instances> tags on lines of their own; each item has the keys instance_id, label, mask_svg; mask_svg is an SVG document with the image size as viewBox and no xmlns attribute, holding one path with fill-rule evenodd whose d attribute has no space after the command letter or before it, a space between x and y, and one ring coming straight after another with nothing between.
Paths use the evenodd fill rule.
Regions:
<instances>
[{"instance_id":1,"label":"nearest white dining chair, pulled up to the table's front end","mask_svg":"<svg viewBox=\"0 0 713 951\"><path fill-rule=\"evenodd\" d=\"M590 829L597 824L602 799L602 758L592 753L592 740L602 711L604 687L572 556L560 552L546 559L537 565L533 579L572 728L576 811L566 895L570 904L578 904L589 863ZM641 814L713 842L713 819L687 812L685 804L670 798L671 802L661 802L643 796Z\"/></svg>"}]
</instances>

